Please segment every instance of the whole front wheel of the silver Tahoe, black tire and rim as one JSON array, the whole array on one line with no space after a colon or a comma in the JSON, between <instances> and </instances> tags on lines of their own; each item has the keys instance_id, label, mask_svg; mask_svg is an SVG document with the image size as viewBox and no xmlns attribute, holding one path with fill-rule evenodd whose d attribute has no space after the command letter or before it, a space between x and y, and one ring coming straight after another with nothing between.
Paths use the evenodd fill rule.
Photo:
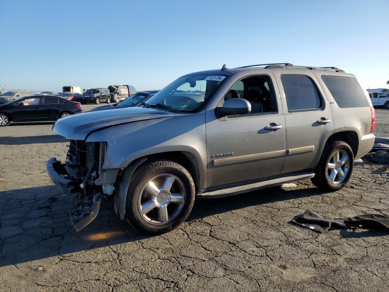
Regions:
<instances>
[{"instance_id":1,"label":"whole front wheel of the silver Tahoe, black tire and rim","mask_svg":"<svg viewBox=\"0 0 389 292\"><path fill-rule=\"evenodd\" d=\"M168 181L173 183L164 190L163 185L169 185ZM154 188L147 187L150 182ZM124 217L139 232L161 234L180 226L194 202L195 183L189 172L171 160L155 160L133 173ZM147 206L144 213L141 213L142 206Z\"/></svg>"}]
</instances>

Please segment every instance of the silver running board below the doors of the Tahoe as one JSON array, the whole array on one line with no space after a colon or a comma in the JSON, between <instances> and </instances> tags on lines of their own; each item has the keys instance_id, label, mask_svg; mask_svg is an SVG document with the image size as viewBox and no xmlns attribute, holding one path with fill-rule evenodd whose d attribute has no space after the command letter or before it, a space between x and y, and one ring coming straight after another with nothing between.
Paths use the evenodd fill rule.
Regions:
<instances>
[{"instance_id":1,"label":"silver running board below the doors of the Tahoe","mask_svg":"<svg viewBox=\"0 0 389 292\"><path fill-rule=\"evenodd\" d=\"M313 172L297 174L294 176L284 176L281 178L270 179L267 181L259 181L257 183L251 183L249 185L234 186L231 188L224 188L222 190L204 192L198 194L197 196L203 199L226 197L231 195L237 195L239 193L246 193L255 190L260 190L261 188L270 188L272 186L278 186L284 183L292 183L293 181L300 181L303 179L313 178L314 176L315 174Z\"/></svg>"}]
</instances>

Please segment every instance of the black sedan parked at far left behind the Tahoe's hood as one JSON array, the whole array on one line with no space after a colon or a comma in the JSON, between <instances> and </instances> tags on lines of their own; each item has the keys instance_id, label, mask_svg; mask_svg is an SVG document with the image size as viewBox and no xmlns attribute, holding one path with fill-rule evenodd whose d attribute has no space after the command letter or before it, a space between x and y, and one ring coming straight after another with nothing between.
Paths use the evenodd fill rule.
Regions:
<instances>
[{"instance_id":1,"label":"black sedan parked at far left behind the Tahoe's hood","mask_svg":"<svg viewBox=\"0 0 389 292\"><path fill-rule=\"evenodd\" d=\"M8 126L11 121L56 121L81 112L79 102L52 95L30 95L0 104L0 127Z\"/></svg>"}]
</instances>

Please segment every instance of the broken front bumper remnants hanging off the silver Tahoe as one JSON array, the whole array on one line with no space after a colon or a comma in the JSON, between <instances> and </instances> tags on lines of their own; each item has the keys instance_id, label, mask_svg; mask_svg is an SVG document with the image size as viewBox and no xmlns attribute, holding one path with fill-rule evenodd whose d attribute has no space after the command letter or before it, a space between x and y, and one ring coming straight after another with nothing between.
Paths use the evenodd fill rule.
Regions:
<instances>
[{"instance_id":1,"label":"broken front bumper remnants hanging off the silver Tahoe","mask_svg":"<svg viewBox=\"0 0 389 292\"><path fill-rule=\"evenodd\" d=\"M77 203L77 207L73 210L69 210L70 220L76 231L81 230L86 225L91 223L97 216L100 210L102 194L94 193L92 199L86 199L84 190L82 189L82 183L77 182L67 172L65 165L61 164L55 157L50 158L46 163L47 172L51 178L51 181L55 185L62 188L65 193L70 194L83 194L82 199Z\"/></svg>"}]
</instances>

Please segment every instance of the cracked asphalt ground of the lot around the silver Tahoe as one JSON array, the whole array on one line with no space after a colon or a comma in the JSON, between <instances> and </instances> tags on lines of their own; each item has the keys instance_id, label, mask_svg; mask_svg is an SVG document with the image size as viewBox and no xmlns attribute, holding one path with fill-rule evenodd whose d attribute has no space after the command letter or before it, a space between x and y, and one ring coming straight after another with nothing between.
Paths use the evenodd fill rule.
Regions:
<instances>
[{"instance_id":1,"label":"cracked asphalt ground of the lot around the silver Tahoe","mask_svg":"<svg viewBox=\"0 0 389 292\"><path fill-rule=\"evenodd\" d=\"M93 106L83 106L91 108ZM389 136L377 110L376 135ZM104 202L80 232L74 198L51 183L45 162L65 158L52 123L0 128L1 291L388 291L389 236L323 234L289 224L307 209L330 217L389 215L389 173L357 163L347 187L309 180L224 199L196 200L187 221L161 236L133 231ZM35 272L35 267L43 267Z\"/></svg>"}]
</instances>

